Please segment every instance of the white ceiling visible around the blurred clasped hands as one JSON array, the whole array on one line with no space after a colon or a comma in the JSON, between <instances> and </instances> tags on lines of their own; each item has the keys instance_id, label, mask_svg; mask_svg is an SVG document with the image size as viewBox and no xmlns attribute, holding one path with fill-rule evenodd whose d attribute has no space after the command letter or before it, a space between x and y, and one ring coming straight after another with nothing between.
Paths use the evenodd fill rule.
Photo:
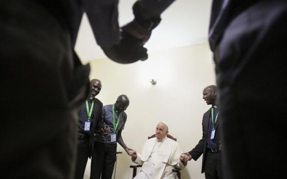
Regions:
<instances>
[{"instance_id":1,"label":"white ceiling visible around the blurred clasped hands","mask_svg":"<svg viewBox=\"0 0 287 179\"><path fill-rule=\"evenodd\" d=\"M136 0L120 0L119 25L133 19ZM212 0L177 0L161 14L161 22L145 44L148 52L171 49L207 41ZM87 16L81 21L75 51L82 61L106 58L96 44Z\"/></svg>"}]
</instances>

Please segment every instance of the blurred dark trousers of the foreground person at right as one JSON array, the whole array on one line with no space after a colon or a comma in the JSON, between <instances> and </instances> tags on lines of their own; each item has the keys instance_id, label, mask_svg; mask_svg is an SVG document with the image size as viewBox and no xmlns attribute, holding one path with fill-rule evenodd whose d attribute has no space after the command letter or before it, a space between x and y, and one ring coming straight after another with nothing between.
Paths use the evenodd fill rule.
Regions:
<instances>
[{"instance_id":1,"label":"blurred dark trousers of the foreground person at right","mask_svg":"<svg viewBox=\"0 0 287 179\"><path fill-rule=\"evenodd\" d=\"M218 47L224 178L286 178L287 2L259 1Z\"/></svg>"}]
</instances>

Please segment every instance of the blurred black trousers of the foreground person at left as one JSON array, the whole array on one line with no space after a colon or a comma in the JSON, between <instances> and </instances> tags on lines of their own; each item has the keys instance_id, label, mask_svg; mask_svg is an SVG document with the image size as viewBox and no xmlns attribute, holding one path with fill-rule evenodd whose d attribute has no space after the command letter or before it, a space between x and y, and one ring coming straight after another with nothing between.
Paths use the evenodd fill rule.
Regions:
<instances>
[{"instance_id":1,"label":"blurred black trousers of the foreground person at left","mask_svg":"<svg viewBox=\"0 0 287 179\"><path fill-rule=\"evenodd\" d=\"M74 64L69 32L36 1L1 1L0 39L1 177L72 178L89 85L75 74L89 69Z\"/></svg>"}]
</instances>

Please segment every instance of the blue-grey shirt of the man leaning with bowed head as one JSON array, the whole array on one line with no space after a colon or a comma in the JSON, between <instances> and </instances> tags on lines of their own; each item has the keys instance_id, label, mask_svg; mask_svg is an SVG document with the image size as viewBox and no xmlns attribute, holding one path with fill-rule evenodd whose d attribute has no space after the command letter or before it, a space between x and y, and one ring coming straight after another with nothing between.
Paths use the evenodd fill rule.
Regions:
<instances>
[{"instance_id":1,"label":"blue-grey shirt of the man leaning with bowed head","mask_svg":"<svg viewBox=\"0 0 287 179\"><path fill-rule=\"evenodd\" d=\"M114 131L113 127L113 104L106 105L103 107L103 122L104 125L107 125L107 127L110 128L110 133L108 135L103 135L101 132L96 131L96 136L95 136L95 141L97 142L103 142L103 143L108 143L108 144L116 144L117 142L111 142L111 135L115 134L118 135L119 130L123 130L125 127L125 119L124 115L125 111L122 112L119 124L117 126L116 131ZM119 117L119 113L117 110L115 110L115 124L117 123ZM123 125L120 125L121 122L124 122Z\"/></svg>"}]
</instances>

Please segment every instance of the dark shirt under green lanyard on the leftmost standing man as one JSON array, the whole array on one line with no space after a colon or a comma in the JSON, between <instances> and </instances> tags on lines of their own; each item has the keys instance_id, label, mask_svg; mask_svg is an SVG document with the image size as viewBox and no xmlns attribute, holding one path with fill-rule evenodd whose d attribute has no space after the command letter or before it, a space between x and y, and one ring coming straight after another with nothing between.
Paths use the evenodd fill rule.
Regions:
<instances>
[{"instance_id":1,"label":"dark shirt under green lanyard on the leftmost standing man","mask_svg":"<svg viewBox=\"0 0 287 179\"><path fill-rule=\"evenodd\" d=\"M91 105L92 102L88 101L89 104L89 110L91 110ZM95 104L94 104L95 105ZM92 114L90 118L90 124L93 122L93 117L94 117L94 107L92 109ZM87 113L87 107L86 107L86 102L81 106L79 110L79 120L78 120L78 131L79 132L88 132L90 131L85 131L85 122L88 121L88 113ZM90 126L91 127L91 126Z\"/></svg>"}]
</instances>

